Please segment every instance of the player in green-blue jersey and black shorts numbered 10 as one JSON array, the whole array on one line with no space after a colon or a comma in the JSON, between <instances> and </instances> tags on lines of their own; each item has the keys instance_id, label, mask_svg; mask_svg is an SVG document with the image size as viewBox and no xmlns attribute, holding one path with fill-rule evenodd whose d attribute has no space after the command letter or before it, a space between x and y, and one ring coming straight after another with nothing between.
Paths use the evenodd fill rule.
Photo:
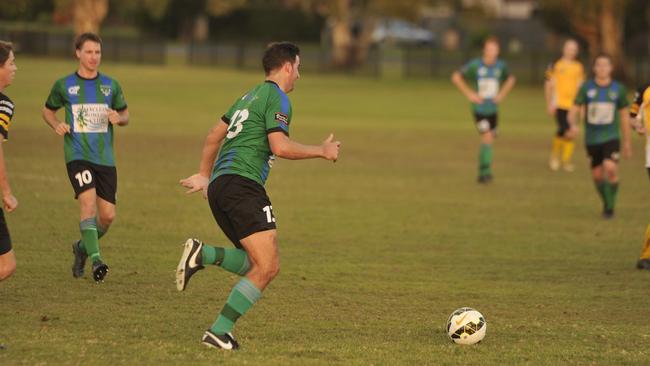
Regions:
<instances>
[{"instance_id":1,"label":"player in green-blue jersey and black shorts numbered 10","mask_svg":"<svg viewBox=\"0 0 650 366\"><path fill-rule=\"evenodd\" d=\"M65 162L70 183L79 200L81 239L72 245L72 275L83 276L90 256L95 281L103 281L108 266L99 255L99 238L115 218L117 170L113 156L113 125L125 126L129 112L120 84L100 74L102 41L84 33L75 41L77 72L54 83L43 119L64 136ZM65 109L65 122L56 117Z\"/></svg>"}]
</instances>

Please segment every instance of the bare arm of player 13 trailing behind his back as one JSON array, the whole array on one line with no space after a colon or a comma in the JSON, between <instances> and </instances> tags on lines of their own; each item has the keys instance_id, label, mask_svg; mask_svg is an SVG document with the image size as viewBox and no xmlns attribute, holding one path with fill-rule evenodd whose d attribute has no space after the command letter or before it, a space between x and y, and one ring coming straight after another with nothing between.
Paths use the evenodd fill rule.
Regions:
<instances>
[{"instance_id":1,"label":"bare arm of player 13 trailing behind his back","mask_svg":"<svg viewBox=\"0 0 650 366\"><path fill-rule=\"evenodd\" d=\"M208 132L208 136L205 138L205 143L203 144L199 172L180 181L183 187L188 188L188 194L203 191L203 197L207 197L210 170L212 169L212 165L214 165L214 160L217 158L217 153L219 152L223 139L226 137L226 133L228 133L228 124L223 120L219 121Z\"/></svg>"}]
</instances>

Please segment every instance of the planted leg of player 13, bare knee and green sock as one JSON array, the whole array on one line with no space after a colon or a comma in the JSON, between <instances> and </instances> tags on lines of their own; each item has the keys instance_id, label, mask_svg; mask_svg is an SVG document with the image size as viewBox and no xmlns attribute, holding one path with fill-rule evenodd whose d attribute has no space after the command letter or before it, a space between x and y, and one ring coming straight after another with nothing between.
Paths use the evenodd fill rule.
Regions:
<instances>
[{"instance_id":1,"label":"planted leg of player 13, bare knee and green sock","mask_svg":"<svg viewBox=\"0 0 650 366\"><path fill-rule=\"evenodd\" d=\"M226 305L210 328L214 334L232 331L235 322L259 300L262 291L278 275L280 257L276 230L266 230L241 240L251 261L251 269L233 288Z\"/></svg>"}]
</instances>

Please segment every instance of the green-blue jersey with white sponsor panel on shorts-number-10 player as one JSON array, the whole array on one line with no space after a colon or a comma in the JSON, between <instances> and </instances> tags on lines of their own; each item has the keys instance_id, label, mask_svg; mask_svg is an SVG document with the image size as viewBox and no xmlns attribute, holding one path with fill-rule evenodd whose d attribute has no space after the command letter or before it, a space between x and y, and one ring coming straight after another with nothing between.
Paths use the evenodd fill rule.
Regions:
<instances>
[{"instance_id":1,"label":"green-blue jersey with white sponsor panel on shorts-number-10 player","mask_svg":"<svg viewBox=\"0 0 650 366\"><path fill-rule=\"evenodd\" d=\"M63 144L66 163L84 160L115 166L108 109L126 109L122 88L116 80L103 74L85 79L75 72L54 83L45 107L53 111L65 108L65 122L70 126Z\"/></svg>"}]
</instances>

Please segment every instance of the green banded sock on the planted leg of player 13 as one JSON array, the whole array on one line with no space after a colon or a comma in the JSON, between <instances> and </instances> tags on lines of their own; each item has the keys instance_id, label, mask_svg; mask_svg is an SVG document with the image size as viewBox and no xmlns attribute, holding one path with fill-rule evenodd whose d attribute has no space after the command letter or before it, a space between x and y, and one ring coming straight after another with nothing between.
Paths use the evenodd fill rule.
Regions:
<instances>
[{"instance_id":1,"label":"green banded sock on the planted leg of player 13","mask_svg":"<svg viewBox=\"0 0 650 366\"><path fill-rule=\"evenodd\" d=\"M232 331L235 322L259 300L262 292L248 278L242 278L232 289L226 305L210 330L214 334Z\"/></svg>"}]
</instances>

